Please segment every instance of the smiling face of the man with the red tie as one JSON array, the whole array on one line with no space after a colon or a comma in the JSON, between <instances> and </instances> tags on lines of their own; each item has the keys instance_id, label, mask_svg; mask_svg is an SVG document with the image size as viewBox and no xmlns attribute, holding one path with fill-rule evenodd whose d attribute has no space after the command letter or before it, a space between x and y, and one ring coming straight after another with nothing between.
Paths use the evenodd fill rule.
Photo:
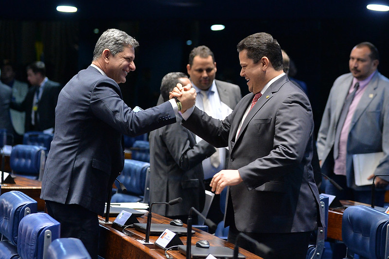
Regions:
<instances>
[{"instance_id":1,"label":"smiling face of the man with the red tie","mask_svg":"<svg viewBox=\"0 0 389 259\"><path fill-rule=\"evenodd\" d=\"M262 60L254 63L251 58L248 58L247 50L242 50L239 52L239 62L242 67L240 76L247 80L248 91L252 93L260 92L266 85L266 82L264 83L265 72Z\"/></svg>"}]
</instances>

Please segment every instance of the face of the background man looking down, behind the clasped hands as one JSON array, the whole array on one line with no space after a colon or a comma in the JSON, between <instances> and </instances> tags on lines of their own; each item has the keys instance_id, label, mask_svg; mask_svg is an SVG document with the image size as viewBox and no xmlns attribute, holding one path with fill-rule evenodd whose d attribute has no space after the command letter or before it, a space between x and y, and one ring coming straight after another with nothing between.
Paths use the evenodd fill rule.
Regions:
<instances>
[{"instance_id":1,"label":"face of the background man looking down, behind the clasped hands","mask_svg":"<svg viewBox=\"0 0 389 259\"><path fill-rule=\"evenodd\" d=\"M201 90L208 90L216 75L216 62L213 62L212 56L193 58L192 66L186 66L187 72L192 82Z\"/></svg>"}]
</instances>

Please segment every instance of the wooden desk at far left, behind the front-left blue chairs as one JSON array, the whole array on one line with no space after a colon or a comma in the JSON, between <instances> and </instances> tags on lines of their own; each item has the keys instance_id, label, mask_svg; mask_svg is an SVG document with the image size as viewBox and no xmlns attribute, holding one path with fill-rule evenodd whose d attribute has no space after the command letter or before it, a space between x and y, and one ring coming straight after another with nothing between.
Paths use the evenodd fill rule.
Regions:
<instances>
[{"instance_id":1,"label":"wooden desk at far left, behind the front-left blue chairs","mask_svg":"<svg viewBox=\"0 0 389 259\"><path fill-rule=\"evenodd\" d=\"M42 183L22 176L14 178L15 184L2 184L1 194L8 191L21 191L38 202L38 211L45 210L45 201L39 198Z\"/></svg>"}]
</instances>

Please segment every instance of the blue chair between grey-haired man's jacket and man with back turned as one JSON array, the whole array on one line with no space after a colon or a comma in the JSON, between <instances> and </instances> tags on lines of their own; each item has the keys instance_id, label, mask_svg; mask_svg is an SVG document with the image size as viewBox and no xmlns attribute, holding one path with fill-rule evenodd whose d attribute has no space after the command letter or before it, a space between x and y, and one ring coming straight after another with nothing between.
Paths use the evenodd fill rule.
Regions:
<instances>
[{"instance_id":1,"label":"blue chair between grey-haired man's jacket and man with back turned","mask_svg":"<svg viewBox=\"0 0 389 259\"><path fill-rule=\"evenodd\" d=\"M136 203L143 201L149 167L150 163L125 159L123 171L118 179L127 188L127 192L123 193L121 188L117 188L117 193L112 195L111 202Z\"/></svg>"}]
</instances>

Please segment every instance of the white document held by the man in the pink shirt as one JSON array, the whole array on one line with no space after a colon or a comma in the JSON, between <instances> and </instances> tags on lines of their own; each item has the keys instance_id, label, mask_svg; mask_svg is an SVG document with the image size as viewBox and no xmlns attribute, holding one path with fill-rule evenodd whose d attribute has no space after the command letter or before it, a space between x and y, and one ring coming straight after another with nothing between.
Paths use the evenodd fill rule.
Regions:
<instances>
[{"instance_id":1,"label":"white document held by the man in the pink shirt","mask_svg":"<svg viewBox=\"0 0 389 259\"><path fill-rule=\"evenodd\" d=\"M355 185L371 185L373 179L367 180L377 168L381 158L384 157L384 152L367 153L367 154L354 154L354 177Z\"/></svg>"}]
</instances>

